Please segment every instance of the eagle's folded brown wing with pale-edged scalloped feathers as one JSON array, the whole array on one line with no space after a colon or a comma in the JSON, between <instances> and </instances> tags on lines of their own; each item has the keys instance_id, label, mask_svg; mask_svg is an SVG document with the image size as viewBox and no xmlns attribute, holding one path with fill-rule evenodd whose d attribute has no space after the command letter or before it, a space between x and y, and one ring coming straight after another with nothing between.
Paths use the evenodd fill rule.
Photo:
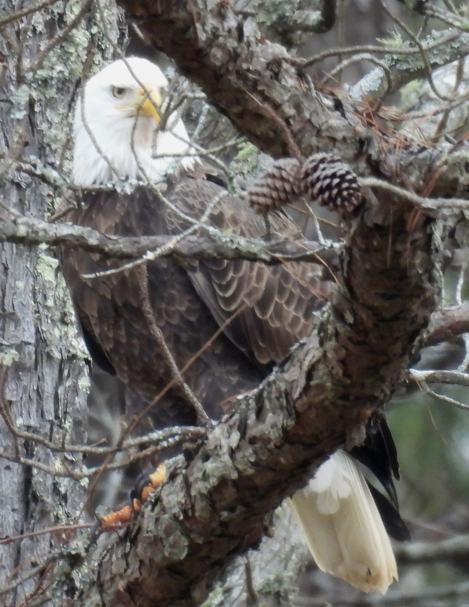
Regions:
<instances>
[{"instance_id":1,"label":"eagle's folded brown wing with pale-edged scalloped feathers","mask_svg":"<svg viewBox=\"0 0 469 607\"><path fill-rule=\"evenodd\" d=\"M221 193L210 179L187 175L171 200L199 217ZM175 217L175 232L181 222ZM210 217L211 225L231 234L259 238L265 223L244 200L225 195ZM299 236L298 227L284 215L271 215L271 229L281 237ZM285 358L291 346L310 333L333 289L325 263L284 262L267 266L245 260L213 260L188 265L188 276L224 333L256 364L270 367Z\"/></svg>"}]
</instances>

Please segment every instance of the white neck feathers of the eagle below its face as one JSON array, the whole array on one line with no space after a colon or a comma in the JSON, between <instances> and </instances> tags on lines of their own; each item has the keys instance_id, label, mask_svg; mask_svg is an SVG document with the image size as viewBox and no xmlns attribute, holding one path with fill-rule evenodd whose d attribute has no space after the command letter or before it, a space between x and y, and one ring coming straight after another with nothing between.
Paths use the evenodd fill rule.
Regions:
<instances>
[{"instance_id":1,"label":"white neck feathers of the eagle below its face","mask_svg":"<svg viewBox=\"0 0 469 607\"><path fill-rule=\"evenodd\" d=\"M136 120L114 112L98 118L78 104L73 151L75 185L103 185L118 179L159 181L175 162L180 162L185 169L193 168L195 157L178 158L193 154L182 120L171 115L167 129L158 132L155 138L153 118L140 116Z\"/></svg>"}]
</instances>

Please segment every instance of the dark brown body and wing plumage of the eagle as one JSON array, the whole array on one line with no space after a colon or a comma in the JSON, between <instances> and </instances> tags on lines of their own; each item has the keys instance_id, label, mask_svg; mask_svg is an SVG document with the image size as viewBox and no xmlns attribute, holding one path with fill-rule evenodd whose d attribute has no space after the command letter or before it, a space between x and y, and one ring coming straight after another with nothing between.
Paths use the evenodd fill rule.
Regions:
<instances>
[{"instance_id":1,"label":"dark brown body and wing plumage of the eagle","mask_svg":"<svg viewBox=\"0 0 469 607\"><path fill-rule=\"evenodd\" d=\"M207 201L222 192L211 225L233 234L262 236L262 219L212 179L213 171L200 167L178 179L165 197L198 218ZM188 228L151 189L139 188L130 195L93 192L84 198L82 208L70 211L64 220L122 236L176 235ZM286 217L274 217L272 224L283 236L298 234ZM258 385L267 370L310 332L314 311L325 304L333 288L326 280L326 266L319 263L179 264L159 258L84 280L82 274L119 268L124 262L85 251L67 251L63 259L91 349L96 354L102 350L119 377L151 401L173 379L155 336L158 327L179 370L188 365L185 381L215 418L226 410L231 396ZM205 347L207 342L210 347ZM170 409L170 415L162 409ZM194 421L193 409L176 385L155 405L153 415L175 423Z\"/></svg>"}]
</instances>

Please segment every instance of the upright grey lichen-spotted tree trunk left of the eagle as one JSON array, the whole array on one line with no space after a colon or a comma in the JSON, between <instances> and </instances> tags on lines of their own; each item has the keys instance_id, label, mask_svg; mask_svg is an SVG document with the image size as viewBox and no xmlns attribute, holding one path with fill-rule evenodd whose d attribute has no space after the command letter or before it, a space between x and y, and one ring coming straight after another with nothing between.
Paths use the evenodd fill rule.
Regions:
<instances>
[{"instance_id":1,"label":"upright grey lichen-spotted tree trunk left of the eagle","mask_svg":"<svg viewBox=\"0 0 469 607\"><path fill-rule=\"evenodd\" d=\"M22 7L21 1L4 2L0 21ZM8 209L38 218L50 211L53 189L16 163L34 157L59 169L70 83L81 73L90 42L87 18L70 30L75 39L55 37L73 25L80 8L70 2L65 15L58 2L54 10L35 12L33 21L2 23L0 221ZM86 443L89 381L87 353L53 251L4 243L0 260L0 533L16 538L0 544L1 586L11 588L0 602L24 605L50 568L48 557L73 537L61 526L79 521L87 495L85 483L68 473L68 467L84 468L82 453L64 453L61 446Z\"/></svg>"}]
</instances>

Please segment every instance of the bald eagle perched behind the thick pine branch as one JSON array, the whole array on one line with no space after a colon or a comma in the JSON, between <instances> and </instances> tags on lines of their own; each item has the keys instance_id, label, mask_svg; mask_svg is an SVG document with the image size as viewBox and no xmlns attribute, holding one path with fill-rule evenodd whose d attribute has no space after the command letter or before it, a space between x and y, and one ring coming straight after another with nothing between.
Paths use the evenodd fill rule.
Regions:
<instances>
[{"instance_id":1,"label":"bald eagle perched behind the thick pine branch","mask_svg":"<svg viewBox=\"0 0 469 607\"><path fill-rule=\"evenodd\" d=\"M258 215L230 197L217 172L195 158L176 113L159 128L166 88L161 70L141 58L116 61L88 80L75 112L75 184L139 179L147 185L131 194L84 192L80 208L65 220L113 236L176 235L216 198L211 225L262 236ZM168 176L175 158L178 172ZM298 231L280 214L271 224L285 236ZM76 250L64 250L62 260L91 354L147 401L158 395L154 415L162 425L195 422L192 397L215 419L236 406L236 395L256 387L310 333L314 312L333 289L327 270L316 263L182 265L159 258L100 275L122 262ZM96 277L83 277L90 274ZM367 483L363 464L386 498ZM408 532L393 476L396 450L379 417L364 446L336 452L291 498L319 568L364 591L384 593L397 579L388 533L404 539Z\"/></svg>"}]
</instances>

